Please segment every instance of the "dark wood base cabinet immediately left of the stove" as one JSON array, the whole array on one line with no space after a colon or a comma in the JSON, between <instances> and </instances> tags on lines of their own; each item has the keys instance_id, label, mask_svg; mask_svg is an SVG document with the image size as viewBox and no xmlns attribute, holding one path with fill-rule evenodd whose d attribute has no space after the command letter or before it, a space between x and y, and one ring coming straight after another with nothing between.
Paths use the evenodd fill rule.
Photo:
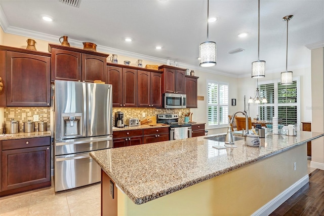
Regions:
<instances>
[{"instance_id":1,"label":"dark wood base cabinet immediately left of the stove","mask_svg":"<svg viewBox=\"0 0 324 216\"><path fill-rule=\"evenodd\" d=\"M143 143L170 140L169 127L143 129Z\"/></svg>"}]
</instances>

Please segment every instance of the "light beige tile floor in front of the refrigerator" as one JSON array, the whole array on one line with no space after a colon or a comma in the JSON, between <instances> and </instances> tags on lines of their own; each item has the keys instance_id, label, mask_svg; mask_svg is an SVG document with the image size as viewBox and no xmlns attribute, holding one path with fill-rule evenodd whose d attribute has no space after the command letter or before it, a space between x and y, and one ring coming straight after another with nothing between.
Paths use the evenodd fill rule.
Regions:
<instances>
[{"instance_id":1,"label":"light beige tile floor in front of the refrigerator","mask_svg":"<svg viewBox=\"0 0 324 216\"><path fill-rule=\"evenodd\" d=\"M308 173L314 171L308 158ZM54 186L0 198L0 215L100 215L100 184L54 193Z\"/></svg>"}]
</instances>

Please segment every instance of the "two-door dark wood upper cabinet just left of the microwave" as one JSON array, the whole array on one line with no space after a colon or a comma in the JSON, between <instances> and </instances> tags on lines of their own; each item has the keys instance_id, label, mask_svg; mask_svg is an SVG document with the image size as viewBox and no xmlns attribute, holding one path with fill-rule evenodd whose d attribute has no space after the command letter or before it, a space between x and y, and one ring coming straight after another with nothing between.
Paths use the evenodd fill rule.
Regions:
<instances>
[{"instance_id":1,"label":"two-door dark wood upper cabinet just left of the microwave","mask_svg":"<svg viewBox=\"0 0 324 216\"><path fill-rule=\"evenodd\" d=\"M162 75L149 71L137 71L137 105L162 107Z\"/></svg>"}]
</instances>

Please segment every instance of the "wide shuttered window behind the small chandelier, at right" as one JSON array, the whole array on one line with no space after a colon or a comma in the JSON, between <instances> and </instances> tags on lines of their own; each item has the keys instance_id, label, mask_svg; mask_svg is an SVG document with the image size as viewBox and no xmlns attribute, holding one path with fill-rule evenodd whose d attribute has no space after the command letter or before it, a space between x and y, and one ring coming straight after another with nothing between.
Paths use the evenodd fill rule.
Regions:
<instances>
[{"instance_id":1,"label":"wide shuttered window behind the small chandelier, at right","mask_svg":"<svg viewBox=\"0 0 324 216\"><path fill-rule=\"evenodd\" d=\"M284 125L300 122L298 78L293 79L292 85L281 85L280 80L265 81L259 89L260 95L268 100L268 103L259 104L260 120L271 121L272 117L278 117Z\"/></svg>"}]
</instances>

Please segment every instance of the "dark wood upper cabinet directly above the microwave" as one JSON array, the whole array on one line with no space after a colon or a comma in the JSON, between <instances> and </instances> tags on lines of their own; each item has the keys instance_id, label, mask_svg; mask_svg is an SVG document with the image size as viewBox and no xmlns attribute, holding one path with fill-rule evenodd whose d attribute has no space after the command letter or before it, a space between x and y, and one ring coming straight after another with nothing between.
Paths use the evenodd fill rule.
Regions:
<instances>
[{"instance_id":1,"label":"dark wood upper cabinet directly above the microwave","mask_svg":"<svg viewBox=\"0 0 324 216\"><path fill-rule=\"evenodd\" d=\"M164 93L185 94L186 69L169 65L161 65L158 69L163 71Z\"/></svg>"}]
</instances>

